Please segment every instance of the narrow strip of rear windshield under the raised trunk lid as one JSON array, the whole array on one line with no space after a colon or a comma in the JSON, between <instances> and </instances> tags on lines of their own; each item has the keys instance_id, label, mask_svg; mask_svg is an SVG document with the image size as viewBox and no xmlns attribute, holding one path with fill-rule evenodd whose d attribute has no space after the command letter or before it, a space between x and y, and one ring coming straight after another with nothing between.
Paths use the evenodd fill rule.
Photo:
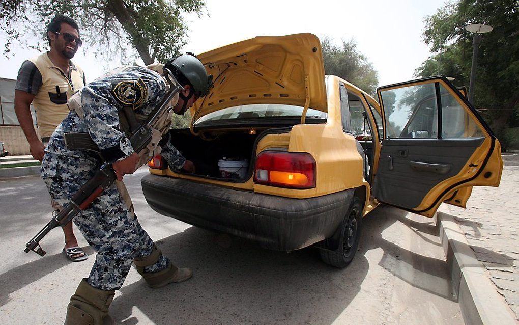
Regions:
<instances>
[{"instance_id":1,"label":"narrow strip of rear windshield under the raised trunk lid","mask_svg":"<svg viewBox=\"0 0 519 325\"><path fill-rule=\"evenodd\" d=\"M253 104L224 108L202 116L195 125L211 121L240 121L250 119L301 118L303 107L283 104ZM306 113L307 119L324 119L327 114L312 108Z\"/></svg>"}]
</instances>

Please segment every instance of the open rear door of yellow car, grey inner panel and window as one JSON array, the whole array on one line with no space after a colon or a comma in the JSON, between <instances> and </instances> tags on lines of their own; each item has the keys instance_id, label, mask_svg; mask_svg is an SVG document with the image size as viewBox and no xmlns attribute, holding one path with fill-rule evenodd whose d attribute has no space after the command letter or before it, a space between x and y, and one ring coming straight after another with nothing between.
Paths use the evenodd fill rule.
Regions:
<instances>
[{"instance_id":1,"label":"open rear door of yellow car, grey inner panel and window","mask_svg":"<svg viewBox=\"0 0 519 325\"><path fill-rule=\"evenodd\" d=\"M499 186L499 141L445 77L377 89L384 139L373 183L381 203L433 216L465 206L472 186Z\"/></svg>"}]
</instances>

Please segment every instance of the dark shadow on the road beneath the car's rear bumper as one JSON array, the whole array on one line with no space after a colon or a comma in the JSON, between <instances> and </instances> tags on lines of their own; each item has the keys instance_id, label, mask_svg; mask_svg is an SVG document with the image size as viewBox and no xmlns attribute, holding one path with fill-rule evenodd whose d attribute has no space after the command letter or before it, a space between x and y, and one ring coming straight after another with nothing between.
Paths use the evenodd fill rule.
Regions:
<instances>
[{"instance_id":1,"label":"dark shadow on the road beneath the car's rear bumper","mask_svg":"<svg viewBox=\"0 0 519 325\"><path fill-rule=\"evenodd\" d=\"M123 287L111 309L126 325L136 324L135 307L155 324L332 323L369 268L362 251L340 270L312 248L269 251L196 227L158 243L173 263L191 267L193 278L155 290L143 280Z\"/></svg>"}]
</instances>

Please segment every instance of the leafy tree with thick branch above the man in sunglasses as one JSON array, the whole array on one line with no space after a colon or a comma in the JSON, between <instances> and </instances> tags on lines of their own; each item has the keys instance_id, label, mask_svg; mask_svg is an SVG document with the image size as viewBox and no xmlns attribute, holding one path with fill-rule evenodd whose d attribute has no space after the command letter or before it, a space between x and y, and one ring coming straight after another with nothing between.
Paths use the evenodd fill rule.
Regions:
<instances>
[{"instance_id":1,"label":"leafy tree with thick branch above the man in sunglasses","mask_svg":"<svg viewBox=\"0 0 519 325\"><path fill-rule=\"evenodd\" d=\"M46 25L56 13L70 16L79 25L81 38L94 53L128 62L128 48L145 64L164 61L184 46L183 14L201 14L203 0L6 0L0 5L0 29L7 35L4 54L12 41L32 33L41 42L28 45L42 50L47 44Z\"/></svg>"}]
</instances>

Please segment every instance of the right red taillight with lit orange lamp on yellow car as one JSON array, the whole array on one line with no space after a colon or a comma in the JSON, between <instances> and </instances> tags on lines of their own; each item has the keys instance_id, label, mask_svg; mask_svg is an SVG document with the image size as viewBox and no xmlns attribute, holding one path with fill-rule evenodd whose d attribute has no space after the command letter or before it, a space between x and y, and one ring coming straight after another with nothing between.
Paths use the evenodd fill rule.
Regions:
<instances>
[{"instance_id":1,"label":"right red taillight with lit orange lamp on yellow car","mask_svg":"<svg viewBox=\"0 0 519 325\"><path fill-rule=\"evenodd\" d=\"M263 151L256 158L254 183L277 187L316 187L316 161L304 152Z\"/></svg>"}]
</instances>

